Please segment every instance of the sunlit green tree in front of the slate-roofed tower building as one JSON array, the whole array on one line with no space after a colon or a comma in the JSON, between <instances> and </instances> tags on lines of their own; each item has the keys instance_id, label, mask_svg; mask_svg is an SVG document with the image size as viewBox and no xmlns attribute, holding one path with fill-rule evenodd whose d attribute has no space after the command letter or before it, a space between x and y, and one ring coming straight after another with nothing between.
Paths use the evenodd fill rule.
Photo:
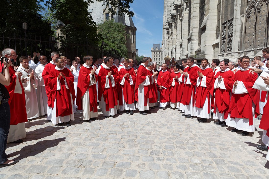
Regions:
<instances>
[{"instance_id":1,"label":"sunlit green tree in front of the slate-roofed tower building","mask_svg":"<svg viewBox=\"0 0 269 179\"><path fill-rule=\"evenodd\" d=\"M120 58L128 57L125 25L114 20L106 20L103 24L99 24L98 33L102 35L102 40L105 42L102 46L103 50L115 53Z\"/></svg>"}]
</instances>

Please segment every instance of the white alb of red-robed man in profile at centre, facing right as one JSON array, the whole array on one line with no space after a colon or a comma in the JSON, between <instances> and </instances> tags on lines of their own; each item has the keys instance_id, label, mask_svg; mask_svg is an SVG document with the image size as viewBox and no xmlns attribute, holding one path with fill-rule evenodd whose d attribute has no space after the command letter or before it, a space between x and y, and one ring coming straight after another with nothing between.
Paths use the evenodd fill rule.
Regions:
<instances>
[{"instance_id":1,"label":"white alb of red-robed man in profile at centre, facing right","mask_svg":"<svg viewBox=\"0 0 269 179\"><path fill-rule=\"evenodd\" d=\"M145 67L143 63L141 63L142 66ZM146 67L145 67L146 68ZM147 69L146 69L147 70ZM143 83L139 84L138 86L138 101L136 103L136 108L139 111L145 111L150 109L150 100L147 98L147 106L144 106L144 101L145 101L145 93L144 93L144 86L150 85L150 79L146 77L146 79L143 81Z\"/></svg>"}]
</instances>

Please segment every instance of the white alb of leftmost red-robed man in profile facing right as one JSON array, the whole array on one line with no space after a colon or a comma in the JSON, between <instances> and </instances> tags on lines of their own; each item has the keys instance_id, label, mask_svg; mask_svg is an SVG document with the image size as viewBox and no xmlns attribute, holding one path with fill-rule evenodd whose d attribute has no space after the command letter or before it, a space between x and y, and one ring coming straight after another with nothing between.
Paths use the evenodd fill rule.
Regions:
<instances>
[{"instance_id":1,"label":"white alb of leftmost red-robed man in profile facing right","mask_svg":"<svg viewBox=\"0 0 269 179\"><path fill-rule=\"evenodd\" d=\"M83 64L83 66L86 67L86 68L90 68L85 63ZM95 75L89 74L89 76L90 76L90 84L89 84L89 86L96 84ZM90 109L93 109L93 106L90 105L89 88L87 89L87 91L82 96L81 101L82 101L82 108L83 108L83 120L90 120L93 117L98 117L98 112L93 112L93 110L90 111Z\"/></svg>"}]
</instances>

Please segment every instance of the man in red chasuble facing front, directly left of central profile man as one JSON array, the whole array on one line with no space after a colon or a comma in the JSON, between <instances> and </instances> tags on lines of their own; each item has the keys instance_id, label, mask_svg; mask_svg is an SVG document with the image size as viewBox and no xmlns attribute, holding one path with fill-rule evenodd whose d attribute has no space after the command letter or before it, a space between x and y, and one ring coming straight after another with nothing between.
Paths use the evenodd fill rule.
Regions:
<instances>
[{"instance_id":1,"label":"man in red chasuble facing front, directly left of central profile man","mask_svg":"<svg viewBox=\"0 0 269 179\"><path fill-rule=\"evenodd\" d=\"M123 60L122 68L119 70L119 83L121 85L122 105L120 105L120 111L127 110L127 114L133 115L135 110L134 106L134 84L136 82L136 74L134 69L130 67L129 59ZM119 98L120 99L120 98Z\"/></svg>"}]
</instances>

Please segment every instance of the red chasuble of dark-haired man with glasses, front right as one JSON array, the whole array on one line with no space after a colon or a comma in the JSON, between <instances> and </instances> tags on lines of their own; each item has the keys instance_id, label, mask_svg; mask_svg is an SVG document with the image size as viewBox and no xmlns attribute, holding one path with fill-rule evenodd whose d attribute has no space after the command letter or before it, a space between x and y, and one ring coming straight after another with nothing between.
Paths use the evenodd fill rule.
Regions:
<instances>
[{"instance_id":1,"label":"red chasuble of dark-haired man with glasses, front right","mask_svg":"<svg viewBox=\"0 0 269 179\"><path fill-rule=\"evenodd\" d=\"M259 110L259 101L260 101L260 93L258 90L252 88L255 83L258 75L257 73L249 73L249 70L236 71L233 77L233 83L238 80L242 81L249 93L245 94L233 94L231 97L229 113L231 114L231 118L245 118L249 119L249 125L253 125L253 114L252 114L252 102L255 105L254 117L256 118L260 114ZM230 87L233 87L233 83L230 83Z\"/></svg>"}]
</instances>

